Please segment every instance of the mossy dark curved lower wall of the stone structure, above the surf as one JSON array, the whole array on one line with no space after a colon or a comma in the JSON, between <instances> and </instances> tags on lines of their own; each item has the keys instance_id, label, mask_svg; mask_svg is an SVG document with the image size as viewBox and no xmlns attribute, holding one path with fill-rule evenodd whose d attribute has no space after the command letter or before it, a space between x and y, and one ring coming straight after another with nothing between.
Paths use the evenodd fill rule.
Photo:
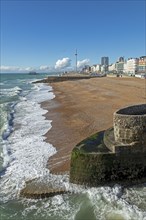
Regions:
<instances>
[{"instance_id":1,"label":"mossy dark curved lower wall of the stone structure, above the surf","mask_svg":"<svg viewBox=\"0 0 146 220\"><path fill-rule=\"evenodd\" d=\"M72 151L70 182L101 186L146 181L146 154L88 153L83 150L84 146L82 143L81 148L78 146Z\"/></svg>"}]
</instances>

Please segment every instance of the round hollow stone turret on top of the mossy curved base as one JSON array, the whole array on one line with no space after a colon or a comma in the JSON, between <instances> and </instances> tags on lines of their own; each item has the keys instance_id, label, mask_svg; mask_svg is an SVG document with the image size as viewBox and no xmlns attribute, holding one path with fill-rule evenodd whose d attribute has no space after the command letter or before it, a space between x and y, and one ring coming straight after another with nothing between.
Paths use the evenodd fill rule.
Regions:
<instances>
[{"instance_id":1,"label":"round hollow stone turret on top of the mossy curved base","mask_svg":"<svg viewBox=\"0 0 146 220\"><path fill-rule=\"evenodd\" d=\"M146 144L146 104L116 111L113 124L116 142Z\"/></svg>"}]
</instances>

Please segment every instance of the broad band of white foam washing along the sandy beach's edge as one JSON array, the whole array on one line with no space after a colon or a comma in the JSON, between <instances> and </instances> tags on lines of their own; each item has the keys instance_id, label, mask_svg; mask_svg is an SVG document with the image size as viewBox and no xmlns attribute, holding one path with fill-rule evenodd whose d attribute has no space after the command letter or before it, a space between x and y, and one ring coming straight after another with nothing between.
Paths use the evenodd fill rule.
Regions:
<instances>
[{"instance_id":1,"label":"broad band of white foam washing along the sandy beach's edge","mask_svg":"<svg viewBox=\"0 0 146 220\"><path fill-rule=\"evenodd\" d=\"M7 147L3 148L4 166L10 163L0 183L1 193L7 194L6 200L16 197L26 181L49 175L46 164L48 158L56 153L56 149L44 141L43 135L51 128L51 120L45 119L43 115L47 111L38 104L54 98L54 94L49 92L51 87L43 84L36 88L15 106L15 130L7 141Z\"/></svg>"}]
</instances>

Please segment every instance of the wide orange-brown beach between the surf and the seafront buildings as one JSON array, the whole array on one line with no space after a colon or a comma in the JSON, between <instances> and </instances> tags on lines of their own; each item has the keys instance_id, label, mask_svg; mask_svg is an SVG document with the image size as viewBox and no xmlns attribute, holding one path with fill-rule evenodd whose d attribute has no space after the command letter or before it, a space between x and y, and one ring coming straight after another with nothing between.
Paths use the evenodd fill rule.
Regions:
<instances>
[{"instance_id":1,"label":"wide orange-brown beach between the surf and the seafront buildings","mask_svg":"<svg viewBox=\"0 0 146 220\"><path fill-rule=\"evenodd\" d=\"M146 102L144 79L103 77L51 86L55 98L42 107L52 120L46 141L57 149L48 160L48 168L56 174L69 171L71 151L77 143L112 126L114 111Z\"/></svg>"}]
</instances>

